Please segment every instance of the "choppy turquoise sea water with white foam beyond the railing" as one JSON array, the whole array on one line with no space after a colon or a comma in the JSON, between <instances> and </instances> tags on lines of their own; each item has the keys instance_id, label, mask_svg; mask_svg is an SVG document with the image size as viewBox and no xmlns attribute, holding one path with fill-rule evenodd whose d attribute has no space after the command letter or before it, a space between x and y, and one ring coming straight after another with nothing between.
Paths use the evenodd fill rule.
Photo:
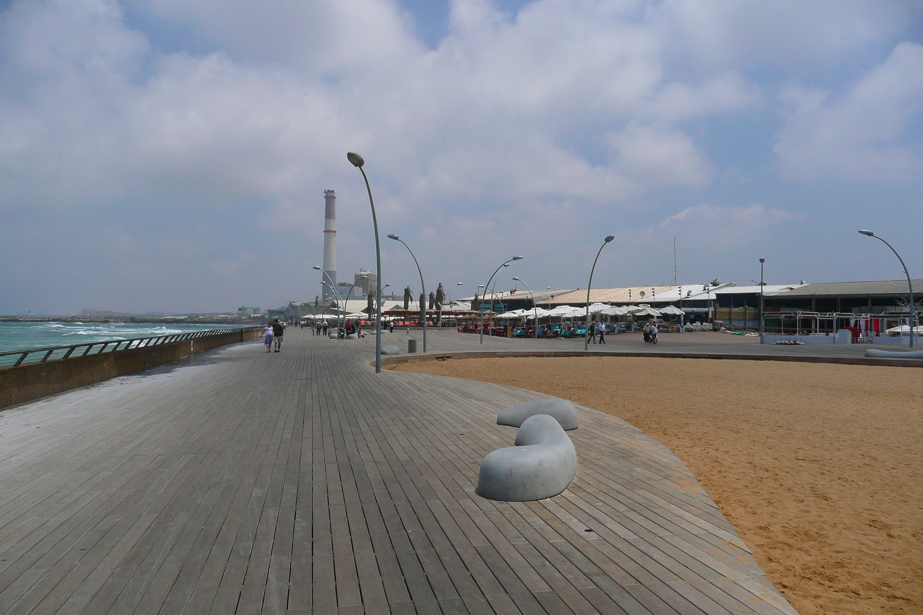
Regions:
<instances>
[{"instance_id":1,"label":"choppy turquoise sea water with white foam beyond the railing","mask_svg":"<svg viewBox=\"0 0 923 615\"><path fill-rule=\"evenodd\" d=\"M70 346L136 337L168 336L238 325L145 325L138 323L0 323L0 352Z\"/></svg>"}]
</instances>

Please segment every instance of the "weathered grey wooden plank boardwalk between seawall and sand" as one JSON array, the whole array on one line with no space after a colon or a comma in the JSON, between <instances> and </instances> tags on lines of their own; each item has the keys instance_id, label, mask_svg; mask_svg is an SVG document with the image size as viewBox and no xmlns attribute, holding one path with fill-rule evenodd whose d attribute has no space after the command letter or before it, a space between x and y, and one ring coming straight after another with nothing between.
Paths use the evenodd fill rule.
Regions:
<instances>
[{"instance_id":1,"label":"weathered grey wooden plank boardwalk between seawall and sand","mask_svg":"<svg viewBox=\"0 0 923 615\"><path fill-rule=\"evenodd\" d=\"M290 330L0 413L0 613L795 613L643 432L581 408L569 489L490 502L538 395L373 352Z\"/></svg>"}]
</instances>

